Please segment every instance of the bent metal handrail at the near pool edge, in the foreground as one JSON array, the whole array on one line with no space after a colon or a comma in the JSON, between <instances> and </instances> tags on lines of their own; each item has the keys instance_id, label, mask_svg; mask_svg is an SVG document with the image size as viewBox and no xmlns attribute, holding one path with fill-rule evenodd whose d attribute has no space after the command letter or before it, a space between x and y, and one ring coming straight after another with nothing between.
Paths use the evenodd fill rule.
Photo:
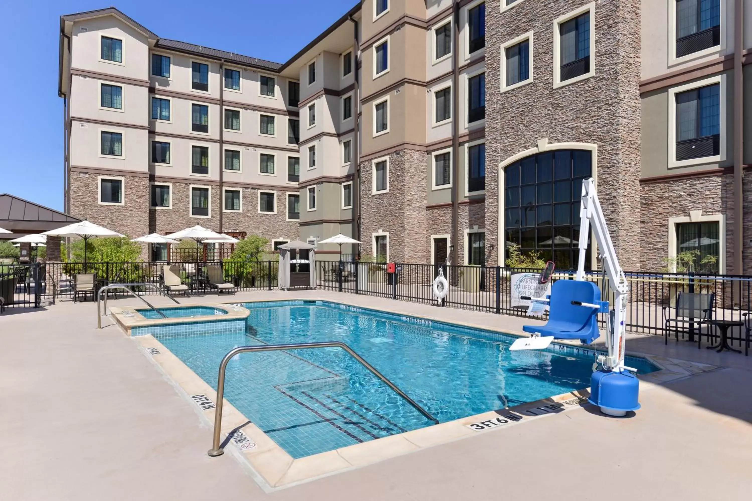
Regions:
<instances>
[{"instance_id":1,"label":"bent metal handrail at the near pool edge, in the foreground","mask_svg":"<svg viewBox=\"0 0 752 501\"><path fill-rule=\"evenodd\" d=\"M238 355L240 353L247 353L247 352L272 352L276 350L310 349L310 348L344 349L344 351L349 353L350 356L352 356L356 361L359 361L363 367L370 370L371 373L374 374L374 376L378 377L378 379L381 379L381 381L385 382L387 386L392 388L396 392L396 394L398 394L400 397L405 399L407 403L413 406L414 409L420 412L420 414L424 415L426 418L438 424L438 419L434 418L432 415L430 415L426 411L426 409L423 409L423 407L415 403L414 400L408 397L404 391L397 388L393 382L387 379L387 377L384 376L384 374L376 370L376 368L373 367L371 364L368 364L368 362L363 360L360 357L360 355L358 355L356 352L353 352L350 346L347 346L344 343L340 343L339 341L325 341L323 343L296 343L292 345L239 346L238 348L230 350L227 353L227 355L225 355L225 357L222 359L222 363L220 364L220 373L219 373L219 376L217 377L217 410L214 412L214 442L212 443L212 448L209 449L207 454L209 454L211 457L215 457L215 456L220 456L224 453L223 447L220 447L220 440L221 440L220 435L222 433L222 406L223 406L224 397L225 397L225 370L227 368L227 363L230 361L230 359L234 357L235 355Z\"/></svg>"}]
</instances>

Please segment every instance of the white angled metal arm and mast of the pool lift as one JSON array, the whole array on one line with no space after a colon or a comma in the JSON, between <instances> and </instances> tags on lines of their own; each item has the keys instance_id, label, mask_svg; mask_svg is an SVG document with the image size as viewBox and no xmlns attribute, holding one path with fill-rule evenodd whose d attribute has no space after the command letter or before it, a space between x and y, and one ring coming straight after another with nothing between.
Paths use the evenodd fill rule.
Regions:
<instances>
[{"instance_id":1,"label":"white angled metal arm and mast of the pool lift","mask_svg":"<svg viewBox=\"0 0 752 501\"><path fill-rule=\"evenodd\" d=\"M624 367L624 340L626 322L626 304L629 295L629 282L619 266L619 261L608 234L606 220L603 216L601 204L596 194L596 183L593 178L582 182L582 198L580 206L580 256L577 267L576 280L585 279L585 251L587 249L587 236L590 234L590 226L593 226L593 234L596 236L598 248L602 253L603 269L608 276L608 285L614 291L614 307L607 322L606 348L608 355L598 357L599 364L607 370L620 372Z\"/></svg>"}]
</instances>

